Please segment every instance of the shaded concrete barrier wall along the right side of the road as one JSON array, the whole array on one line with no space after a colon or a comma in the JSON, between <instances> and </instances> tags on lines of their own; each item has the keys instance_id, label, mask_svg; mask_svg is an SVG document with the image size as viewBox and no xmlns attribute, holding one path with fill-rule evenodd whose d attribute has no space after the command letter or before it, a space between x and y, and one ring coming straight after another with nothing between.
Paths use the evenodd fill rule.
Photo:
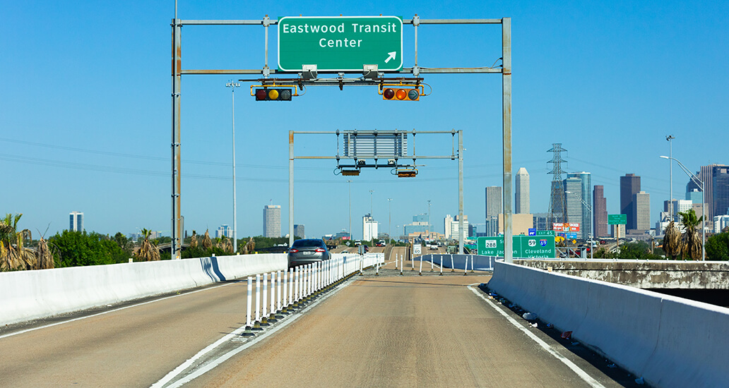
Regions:
<instances>
[{"instance_id":1,"label":"shaded concrete barrier wall along the right side of the road","mask_svg":"<svg viewBox=\"0 0 729 388\"><path fill-rule=\"evenodd\" d=\"M722 387L729 309L514 264L488 287L655 387Z\"/></svg>"}]
</instances>

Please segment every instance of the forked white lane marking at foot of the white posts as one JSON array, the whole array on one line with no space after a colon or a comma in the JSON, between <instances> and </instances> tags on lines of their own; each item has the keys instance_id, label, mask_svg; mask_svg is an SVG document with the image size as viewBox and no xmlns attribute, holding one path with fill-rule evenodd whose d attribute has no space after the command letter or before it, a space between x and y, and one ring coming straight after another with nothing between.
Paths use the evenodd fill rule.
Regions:
<instances>
[{"instance_id":1,"label":"forked white lane marking at foot of the white posts","mask_svg":"<svg viewBox=\"0 0 729 388\"><path fill-rule=\"evenodd\" d=\"M294 322L298 318L300 318L305 312L308 312L309 309L312 309L317 304L321 303L322 301L327 300L330 296L334 295L335 293L338 293L339 290L349 285L351 282L354 282L356 279L348 280L345 282L342 287L335 288L332 290L332 292L327 293L324 295L321 299L316 300L309 306L307 306L305 309L301 310L300 312L297 312L296 314L292 315L289 319L286 319L276 325L274 328L271 328L270 330L264 331L262 334L255 336L251 341L246 342L246 344L243 344L241 347L235 348L231 350L230 352L225 353L225 355L222 355L220 357L217 357L216 359L212 360L210 363L207 363L206 365L203 365L202 368L199 368L195 370L194 372L190 373L187 376L182 377L182 379L179 379L174 382L174 384L169 385L167 388L176 388L176 387L182 387L184 384L189 383L190 381L197 379L200 376L203 376L203 374L208 373L209 371L212 371L214 368L216 368L218 365L225 363L225 361L229 360L230 357L233 357L237 355L240 352L243 352L243 350L248 349L249 347L252 347L254 344L259 343L260 341L264 340L265 338L268 338L268 336L273 335L273 333L276 333L278 330L281 330L282 328L285 328L289 325L289 323ZM233 336L236 336L245 330L246 326L243 325L240 328L236 329L233 333L228 334L227 336L220 338L218 341L216 341L214 344L209 345L203 350L200 350L197 355L192 356L190 360L185 361L182 363L182 365L179 365L177 368L174 369L174 371L171 371L170 373L167 373L166 376L164 376L160 381L157 381L155 384L152 384L149 388L160 388L164 387L165 384L168 384L172 379L174 379L176 376L178 376L180 373L182 373L185 369L190 367L192 363L195 363L200 357L203 357L206 353L213 350L215 347L218 347L222 342L229 340Z\"/></svg>"}]
</instances>

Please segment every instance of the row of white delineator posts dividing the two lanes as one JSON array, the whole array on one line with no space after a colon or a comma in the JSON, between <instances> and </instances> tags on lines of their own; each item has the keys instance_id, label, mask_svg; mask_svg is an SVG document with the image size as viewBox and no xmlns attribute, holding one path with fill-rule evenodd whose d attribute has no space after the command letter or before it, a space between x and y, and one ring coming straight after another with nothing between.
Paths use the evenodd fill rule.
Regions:
<instances>
[{"instance_id":1,"label":"row of white delineator posts dividing the two lanes","mask_svg":"<svg viewBox=\"0 0 729 388\"><path fill-rule=\"evenodd\" d=\"M367 257L342 256L289 268L288 271L257 274L255 312L252 311L254 277L249 276L246 330L243 331L243 336L254 336L254 331L263 330L264 326L280 320L284 314L300 309L349 274L362 272L362 269L379 264L380 261L381 256L376 254Z\"/></svg>"}]
</instances>

